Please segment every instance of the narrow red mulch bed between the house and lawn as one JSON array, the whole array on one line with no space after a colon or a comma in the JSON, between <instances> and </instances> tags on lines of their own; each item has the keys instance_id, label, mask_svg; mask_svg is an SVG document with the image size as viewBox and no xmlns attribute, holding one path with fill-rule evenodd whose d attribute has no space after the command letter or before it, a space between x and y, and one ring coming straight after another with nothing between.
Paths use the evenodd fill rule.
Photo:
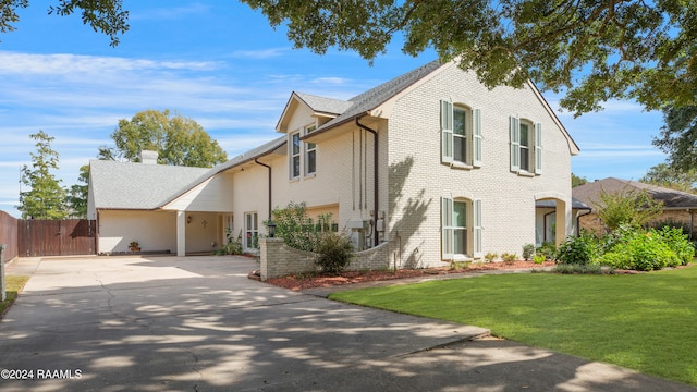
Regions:
<instances>
[{"instance_id":1,"label":"narrow red mulch bed between the house and lawn","mask_svg":"<svg viewBox=\"0 0 697 392\"><path fill-rule=\"evenodd\" d=\"M545 261L545 264L536 265L533 261L515 261L508 262L484 262L472 264L463 269L428 268L428 269L402 269L402 270L383 270L383 271L356 271L344 272L341 275L323 275L323 274L294 274L283 278L269 279L267 283L293 291L306 289L331 287L341 284L375 282L404 278L432 277L435 274L445 273L467 273L481 270L505 270L505 269L533 269L554 266L553 261Z\"/></svg>"}]
</instances>

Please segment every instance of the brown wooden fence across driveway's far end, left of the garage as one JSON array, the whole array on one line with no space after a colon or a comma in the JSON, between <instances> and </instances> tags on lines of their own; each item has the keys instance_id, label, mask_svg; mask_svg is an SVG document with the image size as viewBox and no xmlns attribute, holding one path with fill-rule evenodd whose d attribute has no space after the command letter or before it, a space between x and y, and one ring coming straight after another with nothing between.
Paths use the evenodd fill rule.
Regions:
<instances>
[{"instance_id":1,"label":"brown wooden fence across driveway's far end, left of the garage","mask_svg":"<svg viewBox=\"0 0 697 392\"><path fill-rule=\"evenodd\" d=\"M96 254L94 220L20 220L17 229L20 257Z\"/></svg>"}]
</instances>

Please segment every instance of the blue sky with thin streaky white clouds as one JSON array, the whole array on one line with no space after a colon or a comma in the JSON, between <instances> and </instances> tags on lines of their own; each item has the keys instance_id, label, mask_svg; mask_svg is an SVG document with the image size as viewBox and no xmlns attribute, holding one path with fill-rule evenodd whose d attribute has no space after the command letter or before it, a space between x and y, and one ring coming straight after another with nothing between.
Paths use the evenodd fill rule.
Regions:
<instances>
[{"instance_id":1,"label":"blue sky with thin streaky white clouds","mask_svg":"<svg viewBox=\"0 0 697 392\"><path fill-rule=\"evenodd\" d=\"M236 1L124 0L131 29L112 48L78 16L30 3L17 30L0 34L0 210L14 216L20 169L35 151L29 135L39 130L56 138L65 186L111 145L120 119L146 109L195 120L232 158L279 136L293 90L347 99L436 59L405 56L399 40L372 66L353 52L294 50L284 28ZM558 108L559 96L543 95ZM558 115L582 150L572 159L577 175L638 180L665 159L651 145L660 112L613 101L579 119Z\"/></svg>"}]
</instances>

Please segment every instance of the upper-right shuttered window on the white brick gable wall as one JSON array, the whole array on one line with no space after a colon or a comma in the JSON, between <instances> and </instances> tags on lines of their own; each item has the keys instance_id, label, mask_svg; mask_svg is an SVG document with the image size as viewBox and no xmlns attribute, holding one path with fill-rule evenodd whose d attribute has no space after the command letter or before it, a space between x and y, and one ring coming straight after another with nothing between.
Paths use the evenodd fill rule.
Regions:
<instances>
[{"instance_id":1,"label":"upper-right shuttered window on the white brick gable wall","mask_svg":"<svg viewBox=\"0 0 697 392\"><path fill-rule=\"evenodd\" d=\"M542 124L509 118L511 171L542 174Z\"/></svg>"}]
</instances>

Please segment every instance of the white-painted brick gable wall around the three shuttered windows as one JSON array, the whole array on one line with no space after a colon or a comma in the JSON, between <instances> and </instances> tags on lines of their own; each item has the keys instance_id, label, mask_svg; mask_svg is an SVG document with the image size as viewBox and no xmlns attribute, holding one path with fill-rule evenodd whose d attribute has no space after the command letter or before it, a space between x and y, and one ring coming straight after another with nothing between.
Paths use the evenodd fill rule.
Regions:
<instances>
[{"instance_id":1,"label":"white-painted brick gable wall around the three shuttered windows","mask_svg":"<svg viewBox=\"0 0 697 392\"><path fill-rule=\"evenodd\" d=\"M441 163L440 99L481 109L481 168L451 169ZM511 172L510 115L542 123L543 174ZM402 266L441 264L443 196L482 200L484 253L519 255L523 245L535 243L536 195L563 199L566 222L572 221L568 140L530 88L488 90L473 73L447 65L394 103L388 164L390 240L398 243Z\"/></svg>"}]
</instances>

